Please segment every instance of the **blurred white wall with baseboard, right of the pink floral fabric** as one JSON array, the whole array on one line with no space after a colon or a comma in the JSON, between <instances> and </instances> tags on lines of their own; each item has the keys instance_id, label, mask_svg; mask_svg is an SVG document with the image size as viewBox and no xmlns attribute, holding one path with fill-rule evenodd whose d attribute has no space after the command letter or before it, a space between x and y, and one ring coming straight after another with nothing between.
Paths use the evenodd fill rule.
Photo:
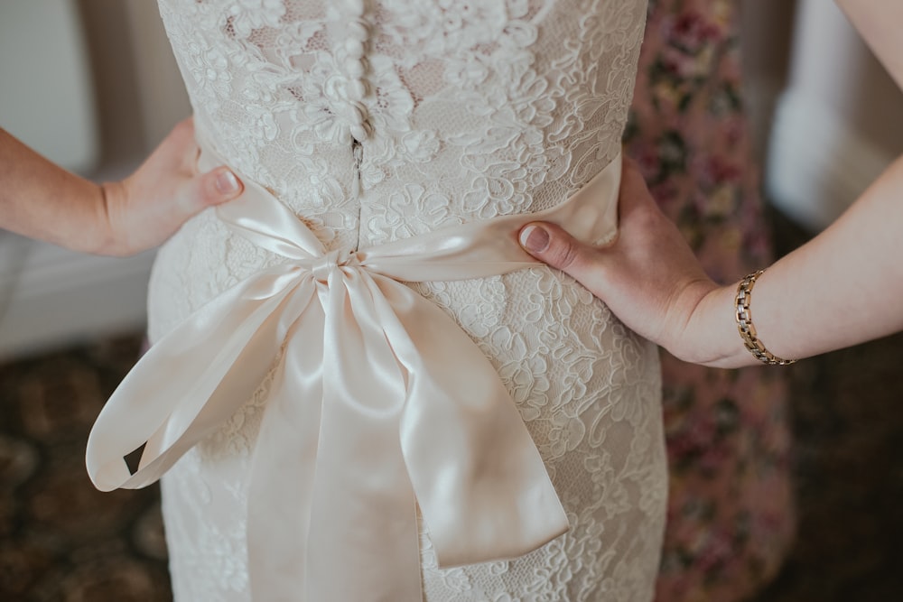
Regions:
<instances>
[{"instance_id":1,"label":"blurred white wall with baseboard, right of the pink floral fabric","mask_svg":"<svg viewBox=\"0 0 903 602\"><path fill-rule=\"evenodd\" d=\"M768 198L820 230L899 153L903 93L833 2L800 0L768 146Z\"/></svg>"}]
</instances>

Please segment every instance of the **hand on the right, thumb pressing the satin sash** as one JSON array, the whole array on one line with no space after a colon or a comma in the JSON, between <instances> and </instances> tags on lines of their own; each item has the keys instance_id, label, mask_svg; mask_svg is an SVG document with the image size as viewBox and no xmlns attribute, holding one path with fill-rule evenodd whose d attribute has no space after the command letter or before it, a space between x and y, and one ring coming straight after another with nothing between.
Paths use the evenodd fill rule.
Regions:
<instances>
[{"instance_id":1,"label":"hand on the right, thumb pressing the satin sash","mask_svg":"<svg viewBox=\"0 0 903 602\"><path fill-rule=\"evenodd\" d=\"M658 209L634 162L624 160L619 233L610 245L584 245L562 228L539 222L526 225L520 239L527 253L573 276L628 328L677 357L704 363L717 359L718 353L700 340L704 332L688 325L720 287Z\"/></svg>"}]
</instances>

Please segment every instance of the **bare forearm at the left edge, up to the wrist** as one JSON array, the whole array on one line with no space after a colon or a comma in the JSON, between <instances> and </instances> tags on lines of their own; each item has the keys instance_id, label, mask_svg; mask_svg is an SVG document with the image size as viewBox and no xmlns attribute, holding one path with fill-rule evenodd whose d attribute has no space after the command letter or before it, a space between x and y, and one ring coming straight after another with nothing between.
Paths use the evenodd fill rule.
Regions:
<instances>
[{"instance_id":1,"label":"bare forearm at the left edge, up to the wrist","mask_svg":"<svg viewBox=\"0 0 903 602\"><path fill-rule=\"evenodd\" d=\"M104 190L0 129L0 227L88 253L106 244Z\"/></svg>"}]
</instances>

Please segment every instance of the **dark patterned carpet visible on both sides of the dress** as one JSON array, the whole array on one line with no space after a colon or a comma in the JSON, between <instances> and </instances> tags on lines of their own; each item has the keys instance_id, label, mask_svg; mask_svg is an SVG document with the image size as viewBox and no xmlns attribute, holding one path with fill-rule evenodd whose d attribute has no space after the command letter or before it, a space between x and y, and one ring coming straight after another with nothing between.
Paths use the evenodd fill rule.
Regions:
<instances>
[{"instance_id":1,"label":"dark patterned carpet visible on both sides of the dress","mask_svg":"<svg viewBox=\"0 0 903 602\"><path fill-rule=\"evenodd\" d=\"M787 248L800 242L777 226ZM84 468L90 426L140 339L0 366L0 600L172 599L156 487L98 493ZM901 360L897 335L787 368L799 536L756 602L903 599Z\"/></svg>"}]
</instances>

